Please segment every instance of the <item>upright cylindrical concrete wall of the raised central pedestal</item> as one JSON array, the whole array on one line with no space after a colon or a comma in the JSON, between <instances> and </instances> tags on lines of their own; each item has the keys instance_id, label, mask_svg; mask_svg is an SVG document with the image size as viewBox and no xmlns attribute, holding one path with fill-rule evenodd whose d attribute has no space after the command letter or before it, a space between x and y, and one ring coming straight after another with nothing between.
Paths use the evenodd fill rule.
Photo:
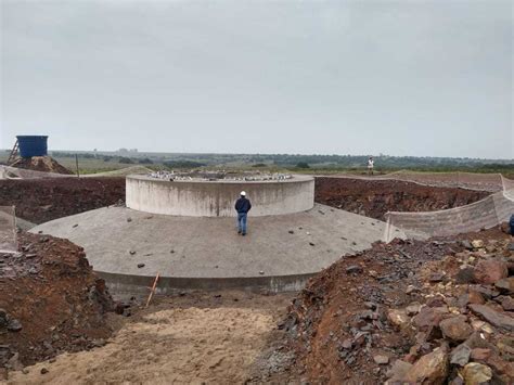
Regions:
<instances>
[{"instance_id":1,"label":"upright cylindrical concrete wall of the raised central pedestal","mask_svg":"<svg viewBox=\"0 0 514 385\"><path fill-rule=\"evenodd\" d=\"M300 213L313 207L314 179L294 176L272 181L168 181L127 177L127 207L187 217L235 217L234 203L246 191L252 216Z\"/></svg>"}]
</instances>

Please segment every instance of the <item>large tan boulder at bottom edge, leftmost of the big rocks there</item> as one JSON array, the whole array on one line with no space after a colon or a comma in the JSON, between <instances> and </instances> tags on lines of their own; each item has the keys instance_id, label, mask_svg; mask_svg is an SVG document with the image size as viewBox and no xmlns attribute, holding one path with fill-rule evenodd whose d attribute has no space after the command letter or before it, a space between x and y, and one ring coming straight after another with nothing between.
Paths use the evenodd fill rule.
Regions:
<instances>
[{"instance_id":1,"label":"large tan boulder at bottom edge, leftmost of the big rocks there","mask_svg":"<svg viewBox=\"0 0 514 385\"><path fill-rule=\"evenodd\" d=\"M436 348L420 358L407 372L404 381L415 384L444 384L448 376L448 354L444 348Z\"/></svg>"}]
</instances>

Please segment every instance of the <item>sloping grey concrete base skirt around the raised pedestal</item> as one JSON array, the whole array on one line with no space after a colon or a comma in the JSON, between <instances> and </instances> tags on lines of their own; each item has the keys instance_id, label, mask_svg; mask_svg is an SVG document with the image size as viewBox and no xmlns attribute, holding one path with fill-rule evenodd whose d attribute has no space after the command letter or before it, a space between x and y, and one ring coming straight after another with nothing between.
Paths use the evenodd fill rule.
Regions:
<instances>
[{"instance_id":1,"label":"sloping grey concrete base skirt around the raised pedestal","mask_svg":"<svg viewBox=\"0 0 514 385\"><path fill-rule=\"evenodd\" d=\"M82 246L93 269L120 287L143 282L149 286L158 272L171 279L169 287L255 283L285 291L301 288L310 274L340 256L368 248L383 238L384 230L378 220L316 204L304 213L250 216L246 236L236 233L232 218L151 215L125 207L56 219L30 231Z\"/></svg>"}]
</instances>

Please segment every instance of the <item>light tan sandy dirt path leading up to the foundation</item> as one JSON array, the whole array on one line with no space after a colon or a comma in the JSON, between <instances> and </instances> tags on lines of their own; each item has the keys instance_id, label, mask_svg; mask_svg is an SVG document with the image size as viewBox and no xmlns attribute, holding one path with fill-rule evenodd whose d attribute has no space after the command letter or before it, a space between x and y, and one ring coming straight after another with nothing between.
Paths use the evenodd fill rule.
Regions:
<instances>
[{"instance_id":1,"label":"light tan sandy dirt path leading up to the foundation","mask_svg":"<svg viewBox=\"0 0 514 385\"><path fill-rule=\"evenodd\" d=\"M243 383L290 300L242 292L167 297L106 346L11 372L8 384Z\"/></svg>"}]
</instances>

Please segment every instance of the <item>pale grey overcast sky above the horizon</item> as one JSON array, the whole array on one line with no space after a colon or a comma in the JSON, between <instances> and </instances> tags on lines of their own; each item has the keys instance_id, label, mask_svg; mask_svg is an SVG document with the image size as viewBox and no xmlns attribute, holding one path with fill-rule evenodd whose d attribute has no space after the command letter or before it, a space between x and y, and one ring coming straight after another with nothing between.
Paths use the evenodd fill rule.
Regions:
<instances>
[{"instance_id":1,"label":"pale grey overcast sky above the horizon","mask_svg":"<svg viewBox=\"0 0 514 385\"><path fill-rule=\"evenodd\" d=\"M0 147L514 158L512 1L0 2Z\"/></svg>"}]
</instances>

